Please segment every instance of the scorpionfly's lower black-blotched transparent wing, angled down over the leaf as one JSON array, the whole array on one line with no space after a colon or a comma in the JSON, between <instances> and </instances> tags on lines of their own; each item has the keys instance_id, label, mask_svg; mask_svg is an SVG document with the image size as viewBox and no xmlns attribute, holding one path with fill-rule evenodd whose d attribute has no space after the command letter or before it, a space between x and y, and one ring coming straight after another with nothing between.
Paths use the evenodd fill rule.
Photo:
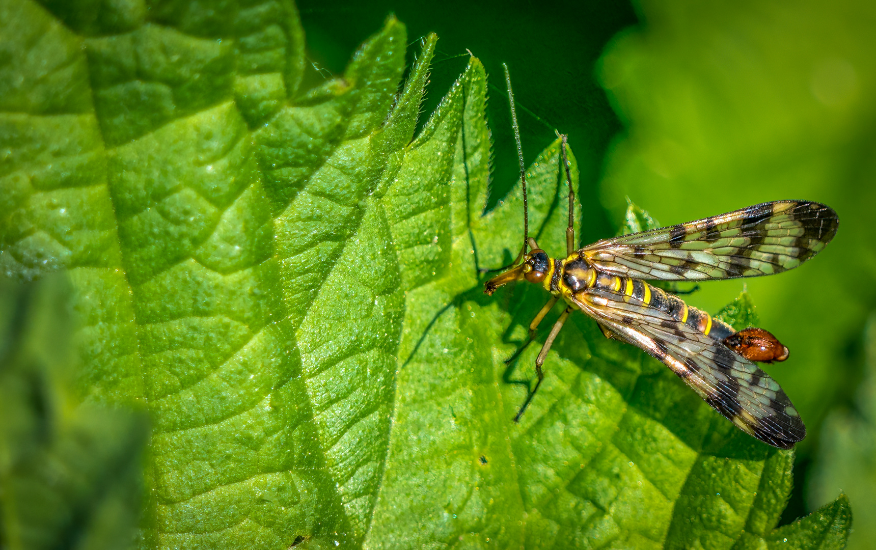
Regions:
<instances>
[{"instance_id":1,"label":"scorpionfly's lower black-blotched transparent wing, angled down over the leaf","mask_svg":"<svg viewBox=\"0 0 876 550\"><path fill-rule=\"evenodd\" d=\"M778 448L792 448L806 437L794 405L766 372L696 328L624 298L590 289L576 294L575 302L618 338L666 363L745 433Z\"/></svg>"}]
</instances>

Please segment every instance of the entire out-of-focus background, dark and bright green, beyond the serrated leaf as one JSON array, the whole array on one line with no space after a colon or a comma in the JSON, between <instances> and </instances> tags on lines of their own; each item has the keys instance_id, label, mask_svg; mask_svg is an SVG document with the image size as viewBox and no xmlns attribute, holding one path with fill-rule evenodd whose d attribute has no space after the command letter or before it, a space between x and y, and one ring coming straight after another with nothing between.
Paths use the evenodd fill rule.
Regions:
<instances>
[{"instance_id":1,"label":"entire out-of-focus background, dark and bright green, beyond the serrated leaf","mask_svg":"<svg viewBox=\"0 0 876 550\"><path fill-rule=\"evenodd\" d=\"M747 287L762 326L791 349L768 370L809 427L782 523L844 490L855 513L850 547L866 547L876 535L867 374L876 359L865 353L876 338L865 332L876 310L876 4L298 5L313 81L340 74L390 12L412 41L440 37L423 112L462 71L466 48L483 60L500 184L516 171L507 63L527 160L557 129L581 162L582 243L614 234L627 197L665 224L777 199L835 208L837 238L816 260L774 278L708 283L688 301L715 312ZM490 204L506 193L493 187Z\"/></svg>"}]
</instances>

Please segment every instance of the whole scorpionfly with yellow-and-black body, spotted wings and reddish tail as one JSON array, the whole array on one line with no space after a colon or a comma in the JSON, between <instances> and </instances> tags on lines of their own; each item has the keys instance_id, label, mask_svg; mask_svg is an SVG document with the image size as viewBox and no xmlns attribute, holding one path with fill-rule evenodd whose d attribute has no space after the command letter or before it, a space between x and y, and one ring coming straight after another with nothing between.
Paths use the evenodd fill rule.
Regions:
<instances>
[{"instance_id":1,"label":"whole scorpionfly with yellow-and-black body, spotted wings and reddish tail","mask_svg":"<svg viewBox=\"0 0 876 550\"><path fill-rule=\"evenodd\" d=\"M487 281L484 292L491 294L512 280L540 284L554 298L531 329L557 300L567 304L545 348L570 312L583 311L606 336L666 363L746 433L774 447L791 448L805 437L806 427L779 384L752 363L782 361L788 349L762 328L736 333L642 279L732 279L787 271L822 250L838 224L836 212L823 204L774 201L606 239L565 258L548 257L528 239L533 250L521 264ZM546 355L542 349L536 360L539 382Z\"/></svg>"}]
</instances>

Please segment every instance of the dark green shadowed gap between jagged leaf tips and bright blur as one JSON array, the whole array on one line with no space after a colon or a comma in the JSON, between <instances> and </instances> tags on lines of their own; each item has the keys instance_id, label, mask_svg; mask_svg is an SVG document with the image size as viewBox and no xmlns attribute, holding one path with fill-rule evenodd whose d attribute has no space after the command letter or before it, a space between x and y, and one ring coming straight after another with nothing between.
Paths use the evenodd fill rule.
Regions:
<instances>
[{"instance_id":1,"label":"dark green shadowed gap between jagged leaf tips and bright blur","mask_svg":"<svg viewBox=\"0 0 876 550\"><path fill-rule=\"evenodd\" d=\"M435 32L439 40L420 125L462 74L469 58L466 49L484 63L490 79L487 117L493 137L493 187L487 208L502 199L518 177L502 63L512 75L527 163L559 130L569 134L574 144L582 188L597 186L605 152L621 124L597 83L594 64L616 32L636 24L628 2L308 0L299 2L298 9L307 33L308 58L314 64L307 76L312 81L303 89L329 73L342 74L350 53L391 13L407 27L409 67L419 53L420 38ZM322 75L314 67L329 73ZM585 198L582 205L583 242L611 232L597 201Z\"/></svg>"}]
</instances>

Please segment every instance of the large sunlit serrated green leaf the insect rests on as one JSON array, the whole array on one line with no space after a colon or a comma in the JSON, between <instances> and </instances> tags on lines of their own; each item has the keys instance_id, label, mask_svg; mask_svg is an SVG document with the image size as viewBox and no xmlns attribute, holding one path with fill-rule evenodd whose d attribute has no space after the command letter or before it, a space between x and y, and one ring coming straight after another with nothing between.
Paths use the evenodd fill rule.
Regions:
<instances>
[{"instance_id":1,"label":"large sunlit serrated green leaf the insect rests on","mask_svg":"<svg viewBox=\"0 0 876 550\"><path fill-rule=\"evenodd\" d=\"M75 365L56 399L73 420L49 438L39 407L4 400L4 544L41 529L32 547L126 546L136 505L102 503L143 483L144 548L841 545L843 497L774 530L793 454L583 315L514 424L547 331L505 359L547 296L483 293L522 225L516 192L483 215L484 67L472 57L415 135L434 36L400 89L389 18L343 76L302 90L294 6L242 4L0 4L0 265L63 270ZM553 254L559 147L528 171ZM8 303L7 340L25 342ZM25 359L4 393L39 387ZM142 469L129 408L149 419ZM56 455L84 473L40 508L49 491L22 488Z\"/></svg>"}]
</instances>

